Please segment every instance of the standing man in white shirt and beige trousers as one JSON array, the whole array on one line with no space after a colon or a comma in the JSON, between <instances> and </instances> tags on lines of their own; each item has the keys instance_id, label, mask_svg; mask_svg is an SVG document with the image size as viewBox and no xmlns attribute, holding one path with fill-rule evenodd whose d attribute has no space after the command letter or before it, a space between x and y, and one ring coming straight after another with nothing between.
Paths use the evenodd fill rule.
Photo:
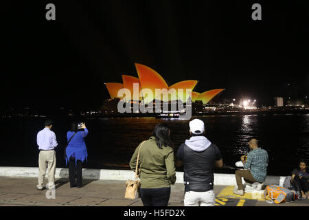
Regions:
<instances>
[{"instance_id":1,"label":"standing man in white shirt and beige trousers","mask_svg":"<svg viewBox=\"0 0 309 220\"><path fill-rule=\"evenodd\" d=\"M49 188L54 188L55 170L56 170L56 151L54 148L58 146L56 135L52 129L52 120L45 121L45 129L38 132L36 143L40 153L38 154L38 185L37 190L44 189L44 177L46 168L48 168L48 184Z\"/></svg>"}]
</instances>

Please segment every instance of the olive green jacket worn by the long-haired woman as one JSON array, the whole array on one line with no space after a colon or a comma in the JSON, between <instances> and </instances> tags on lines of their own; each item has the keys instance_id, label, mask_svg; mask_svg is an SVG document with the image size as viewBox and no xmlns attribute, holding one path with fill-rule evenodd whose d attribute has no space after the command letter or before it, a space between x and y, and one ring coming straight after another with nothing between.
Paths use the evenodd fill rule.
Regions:
<instances>
[{"instance_id":1,"label":"olive green jacket worn by the long-haired woman","mask_svg":"<svg viewBox=\"0 0 309 220\"><path fill-rule=\"evenodd\" d=\"M141 151L139 151L140 147ZM170 187L170 184L175 183L174 151L170 146L162 146L160 149L153 136L146 140L142 146L139 144L130 159L130 168L134 171L138 152L141 188Z\"/></svg>"}]
</instances>

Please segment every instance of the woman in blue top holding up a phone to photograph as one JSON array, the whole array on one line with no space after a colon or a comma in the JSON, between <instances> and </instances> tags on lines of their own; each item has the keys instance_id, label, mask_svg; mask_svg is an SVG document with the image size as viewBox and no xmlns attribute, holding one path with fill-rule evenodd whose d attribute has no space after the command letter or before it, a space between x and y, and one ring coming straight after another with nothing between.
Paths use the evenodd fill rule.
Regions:
<instances>
[{"instance_id":1,"label":"woman in blue top holding up a phone to photograph","mask_svg":"<svg viewBox=\"0 0 309 220\"><path fill-rule=\"evenodd\" d=\"M82 187L82 163L87 161L87 148L84 137L88 135L88 129L84 123L73 122L71 131L67 132L67 141L69 142L66 149L66 164L69 162L69 179L70 187Z\"/></svg>"}]
</instances>

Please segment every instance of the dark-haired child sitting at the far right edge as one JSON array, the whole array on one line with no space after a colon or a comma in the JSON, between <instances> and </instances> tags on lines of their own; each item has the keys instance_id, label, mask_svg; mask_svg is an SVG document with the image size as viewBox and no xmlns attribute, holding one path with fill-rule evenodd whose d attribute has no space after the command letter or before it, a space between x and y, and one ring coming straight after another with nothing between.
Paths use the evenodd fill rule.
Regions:
<instances>
[{"instance_id":1,"label":"dark-haired child sitting at the far right edge","mask_svg":"<svg viewBox=\"0 0 309 220\"><path fill-rule=\"evenodd\" d=\"M304 159L299 160L299 167L295 168L292 171L292 179L291 181L295 181L301 190L301 195L303 199L308 198L308 190L309 190L309 173L307 173L307 162Z\"/></svg>"}]
</instances>

